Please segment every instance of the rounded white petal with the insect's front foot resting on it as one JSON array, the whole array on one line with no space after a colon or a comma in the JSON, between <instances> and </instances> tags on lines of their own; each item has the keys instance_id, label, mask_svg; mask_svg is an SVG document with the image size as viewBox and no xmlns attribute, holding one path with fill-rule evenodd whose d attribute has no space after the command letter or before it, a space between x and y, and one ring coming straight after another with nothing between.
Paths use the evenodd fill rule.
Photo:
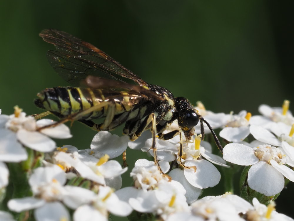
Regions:
<instances>
[{"instance_id":1,"label":"rounded white petal with the insect's front foot resting on it","mask_svg":"<svg viewBox=\"0 0 294 221\"><path fill-rule=\"evenodd\" d=\"M214 187L220 181L220 172L207 160L188 160L185 166L196 166L197 168L196 172L193 169L184 169L186 179L194 187L201 189Z\"/></svg>"}]
</instances>

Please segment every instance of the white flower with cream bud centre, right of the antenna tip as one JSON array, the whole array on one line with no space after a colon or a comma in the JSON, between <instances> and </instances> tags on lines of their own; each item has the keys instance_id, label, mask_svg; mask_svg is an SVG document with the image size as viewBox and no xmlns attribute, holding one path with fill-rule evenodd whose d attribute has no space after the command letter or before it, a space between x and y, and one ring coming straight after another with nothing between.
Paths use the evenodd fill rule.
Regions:
<instances>
[{"instance_id":1,"label":"white flower with cream bud centre, right of the antenna tip","mask_svg":"<svg viewBox=\"0 0 294 221\"><path fill-rule=\"evenodd\" d=\"M283 176L294 182L294 171L284 165L285 154L269 144L254 148L243 144L227 144L223 149L223 159L238 165L252 165L248 171L248 185L266 196L282 191Z\"/></svg>"}]
</instances>

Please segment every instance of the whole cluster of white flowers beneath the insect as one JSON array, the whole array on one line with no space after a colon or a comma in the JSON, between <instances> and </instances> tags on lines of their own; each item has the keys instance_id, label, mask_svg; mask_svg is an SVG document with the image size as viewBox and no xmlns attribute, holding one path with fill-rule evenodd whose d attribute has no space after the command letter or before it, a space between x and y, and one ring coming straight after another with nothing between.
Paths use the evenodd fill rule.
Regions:
<instances>
[{"instance_id":1,"label":"whole cluster of white flowers beneath the insect","mask_svg":"<svg viewBox=\"0 0 294 221\"><path fill-rule=\"evenodd\" d=\"M198 103L196 110L213 129L222 128L220 137L227 143L223 157L212 153L211 144L203 141L201 134L195 134L190 141L182 140L180 134L170 140L156 138L161 170L154 161L138 159L130 172L133 185L124 188L121 188L121 174L128 168L110 159L123 154L128 146L153 156L150 132L131 142L128 136L100 131L90 149L78 150L71 145L56 147L49 137L70 138L69 128L63 124L44 127L54 121L36 121L16 107L14 114L0 115L0 190L12 185L9 180L13 182L17 177L9 174L8 162L19 165L21 171L17 173L26 174L22 177L28 180L14 180L24 182L25 191L19 190L25 192L22 198L6 197L5 201L0 191L0 202L18 213L34 210L37 221L106 221L109 214L126 217L132 212L131 220L140 220L142 214L168 221L293 220L276 212L273 202L266 206L253 197L253 205L230 193L198 199L203 189L220 182L221 173L216 166L228 169L232 169L229 166L232 164L250 166L246 184L267 197L282 191L284 177L294 182L291 169L294 167L294 118L288 107L288 101L282 108L261 105L259 111L263 116L251 116L245 110L238 115L215 114ZM177 129L174 121L164 133ZM200 126L195 129L201 133ZM210 132L206 125L204 130ZM249 142L249 134L255 140ZM43 157L40 164L36 163L37 156ZM0 220L15 218L7 211L0 211Z\"/></svg>"}]
</instances>

